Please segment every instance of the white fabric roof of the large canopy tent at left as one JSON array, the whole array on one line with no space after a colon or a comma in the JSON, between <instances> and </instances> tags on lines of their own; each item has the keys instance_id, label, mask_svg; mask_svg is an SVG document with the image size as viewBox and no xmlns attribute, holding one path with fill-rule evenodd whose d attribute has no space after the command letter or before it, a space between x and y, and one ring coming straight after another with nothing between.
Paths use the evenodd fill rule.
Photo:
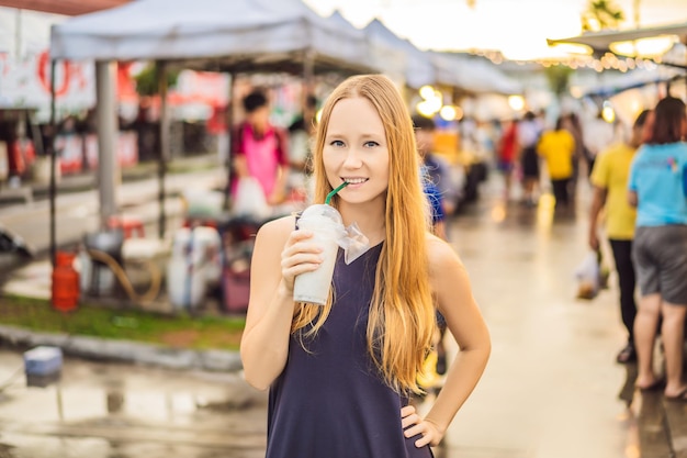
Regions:
<instances>
[{"instance_id":1,"label":"white fabric roof of the large canopy tent at left","mask_svg":"<svg viewBox=\"0 0 687 458\"><path fill-rule=\"evenodd\" d=\"M319 16L301 0L137 0L72 18L52 30L50 56L72 60L232 58L273 63L281 55L375 68L364 36Z\"/></svg>"}]
</instances>

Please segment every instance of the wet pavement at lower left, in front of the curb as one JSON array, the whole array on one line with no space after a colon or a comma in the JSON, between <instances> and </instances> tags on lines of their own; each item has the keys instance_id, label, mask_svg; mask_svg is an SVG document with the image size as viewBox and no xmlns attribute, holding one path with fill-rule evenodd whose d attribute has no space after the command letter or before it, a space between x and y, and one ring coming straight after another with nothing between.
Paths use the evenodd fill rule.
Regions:
<instances>
[{"instance_id":1,"label":"wet pavement at lower left, in front of the curb","mask_svg":"<svg viewBox=\"0 0 687 458\"><path fill-rule=\"evenodd\" d=\"M0 383L22 369L0 351ZM264 407L239 372L67 359L59 382L0 386L0 457L260 457Z\"/></svg>"}]
</instances>

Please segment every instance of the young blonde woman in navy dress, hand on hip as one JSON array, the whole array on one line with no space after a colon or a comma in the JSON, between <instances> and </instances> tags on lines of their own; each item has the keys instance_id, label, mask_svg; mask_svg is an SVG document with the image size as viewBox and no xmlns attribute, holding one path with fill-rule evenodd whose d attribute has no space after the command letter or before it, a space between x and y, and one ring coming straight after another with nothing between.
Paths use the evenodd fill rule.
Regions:
<instances>
[{"instance_id":1,"label":"young blonde woman in navy dress, hand on hip","mask_svg":"<svg viewBox=\"0 0 687 458\"><path fill-rule=\"evenodd\" d=\"M393 82L357 76L327 99L314 146L315 202L331 199L371 248L336 260L333 299L294 303L322 248L292 216L258 232L241 340L246 380L270 389L267 457L430 457L486 366L491 342L454 250L429 232L413 124ZM436 309L460 347L426 416L418 391Z\"/></svg>"}]
</instances>

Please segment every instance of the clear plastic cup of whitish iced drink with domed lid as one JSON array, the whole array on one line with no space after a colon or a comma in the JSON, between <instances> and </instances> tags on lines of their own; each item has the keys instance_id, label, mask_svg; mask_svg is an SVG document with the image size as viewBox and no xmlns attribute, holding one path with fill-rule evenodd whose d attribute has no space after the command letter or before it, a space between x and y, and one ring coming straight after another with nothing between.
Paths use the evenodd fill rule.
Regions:
<instances>
[{"instance_id":1,"label":"clear plastic cup of whitish iced drink with domed lid","mask_svg":"<svg viewBox=\"0 0 687 458\"><path fill-rule=\"evenodd\" d=\"M323 248L323 262L317 269L295 278L293 300L325 305L329 298L334 265L339 249L338 241L346 234L341 214L331 205L314 204L305 209L299 219L299 228L313 232L313 241Z\"/></svg>"}]
</instances>

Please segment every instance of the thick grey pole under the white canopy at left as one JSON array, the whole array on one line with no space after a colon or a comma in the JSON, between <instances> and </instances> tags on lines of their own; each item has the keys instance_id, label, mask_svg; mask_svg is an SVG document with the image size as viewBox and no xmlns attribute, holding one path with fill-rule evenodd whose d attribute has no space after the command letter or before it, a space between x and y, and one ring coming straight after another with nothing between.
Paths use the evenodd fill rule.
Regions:
<instances>
[{"instance_id":1,"label":"thick grey pole under the white canopy at left","mask_svg":"<svg viewBox=\"0 0 687 458\"><path fill-rule=\"evenodd\" d=\"M116 160L116 102L114 83L116 63L95 63L95 105L98 116L98 188L100 191L100 225L108 227L108 220L117 213L116 188L120 167Z\"/></svg>"}]
</instances>

